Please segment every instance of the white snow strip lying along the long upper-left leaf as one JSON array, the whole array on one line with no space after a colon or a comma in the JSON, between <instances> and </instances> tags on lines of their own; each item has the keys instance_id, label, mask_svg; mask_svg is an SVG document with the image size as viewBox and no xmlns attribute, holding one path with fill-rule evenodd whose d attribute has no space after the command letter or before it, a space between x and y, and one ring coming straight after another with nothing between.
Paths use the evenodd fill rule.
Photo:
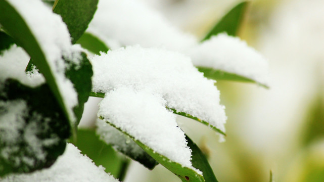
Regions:
<instances>
[{"instance_id":1,"label":"white snow strip lying along the long upper-left leaf","mask_svg":"<svg viewBox=\"0 0 324 182\"><path fill-rule=\"evenodd\" d=\"M72 47L66 25L59 15L53 13L39 0L8 0L8 3L24 17L35 36L56 79L70 120L75 121L72 109L77 105L77 94L71 81L65 77L64 71L67 65L62 57L78 63L80 52Z\"/></svg>"}]
</instances>

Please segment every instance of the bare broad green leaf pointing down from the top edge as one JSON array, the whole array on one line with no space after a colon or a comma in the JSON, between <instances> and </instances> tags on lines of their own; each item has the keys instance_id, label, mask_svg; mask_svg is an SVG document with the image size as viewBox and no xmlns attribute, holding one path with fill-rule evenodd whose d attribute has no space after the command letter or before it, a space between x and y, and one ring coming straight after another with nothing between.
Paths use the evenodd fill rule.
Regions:
<instances>
[{"instance_id":1,"label":"bare broad green leaf pointing down from the top edge","mask_svg":"<svg viewBox=\"0 0 324 182\"><path fill-rule=\"evenodd\" d=\"M61 15L67 25L72 43L75 43L94 17L97 10L98 0L59 0L53 12Z\"/></svg>"}]
</instances>

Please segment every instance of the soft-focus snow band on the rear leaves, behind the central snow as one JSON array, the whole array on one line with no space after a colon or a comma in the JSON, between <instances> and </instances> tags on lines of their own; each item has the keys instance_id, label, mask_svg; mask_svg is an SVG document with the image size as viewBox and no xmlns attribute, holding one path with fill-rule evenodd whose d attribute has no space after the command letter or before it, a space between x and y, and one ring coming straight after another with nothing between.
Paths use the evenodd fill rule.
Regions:
<instances>
[{"instance_id":1,"label":"soft-focus snow band on the rear leaves, behind the central snow","mask_svg":"<svg viewBox=\"0 0 324 182\"><path fill-rule=\"evenodd\" d=\"M172 26L162 14L134 0L100 1L87 32L110 48L140 44L190 56L195 66L208 66L268 84L266 60L239 38L218 35L203 43Z\"/></svg>"}]
</instances>

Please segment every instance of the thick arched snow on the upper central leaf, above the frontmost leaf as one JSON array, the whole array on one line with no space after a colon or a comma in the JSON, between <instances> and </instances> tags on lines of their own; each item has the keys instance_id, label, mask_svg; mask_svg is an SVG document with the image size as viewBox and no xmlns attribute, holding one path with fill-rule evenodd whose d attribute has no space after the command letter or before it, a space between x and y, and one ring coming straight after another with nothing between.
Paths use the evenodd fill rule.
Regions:
<instances>
[{"instance_id":1,"label":"thick arched snow on the upper central leaf, above the frontmost leaf","mask_svg":"<svg viewBox=\"0 0 324 182\"><path fill-rule=\"evenodd\" d=\"M108 93L120 86L149 89L178 112L198 117L224 131L224 106L219 91L191 63L178 53L140 46L109 51L90 59L94 68L92 90Z\"/></svg>"}]
</instances>

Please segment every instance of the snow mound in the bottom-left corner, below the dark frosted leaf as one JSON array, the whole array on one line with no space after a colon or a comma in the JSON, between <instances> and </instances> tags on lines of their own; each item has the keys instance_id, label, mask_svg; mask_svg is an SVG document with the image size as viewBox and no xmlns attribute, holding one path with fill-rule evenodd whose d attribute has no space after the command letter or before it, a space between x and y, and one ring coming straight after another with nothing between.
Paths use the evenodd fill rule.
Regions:
<instances>
[{"instance_id":1,"label":"snow mound in the bottom-left corner, below the dark frosted leaf","mask_svg":"<svg viewBox=\"0 0 324 182\"><path fill-rule=\"evenodd\" d=\"M30 174L10 175L2 182L117 182L111 175L105 172L102 166L97 167L91 159L80 154L80 151L72 144L67 144L66 151L48 169L42 169Z\"/></svg>"}]
</instances>

